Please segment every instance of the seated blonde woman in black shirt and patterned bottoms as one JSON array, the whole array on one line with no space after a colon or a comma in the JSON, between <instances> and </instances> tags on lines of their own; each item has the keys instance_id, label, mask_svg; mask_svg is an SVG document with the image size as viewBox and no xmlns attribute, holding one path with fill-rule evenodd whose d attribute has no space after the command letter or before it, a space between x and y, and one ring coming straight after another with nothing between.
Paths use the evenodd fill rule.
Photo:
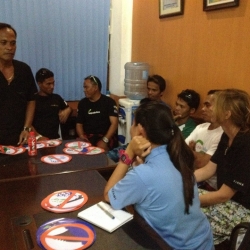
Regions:
<instances>
[{"instance_id":1,"label":"seated blonde woman in black shirt and patterned bottoms","mask_svg":"<svg viewBox=\"0 0 250 250\"><path fill-rule=\"evenodd\" d=\"M214 243L229 239L234 226L250 221L250 97L238 89L217 93L214 119L224 130L209 163L195 171L197 182L217 173L217 191L200 190Z\"/></svg>"}]
</instances>

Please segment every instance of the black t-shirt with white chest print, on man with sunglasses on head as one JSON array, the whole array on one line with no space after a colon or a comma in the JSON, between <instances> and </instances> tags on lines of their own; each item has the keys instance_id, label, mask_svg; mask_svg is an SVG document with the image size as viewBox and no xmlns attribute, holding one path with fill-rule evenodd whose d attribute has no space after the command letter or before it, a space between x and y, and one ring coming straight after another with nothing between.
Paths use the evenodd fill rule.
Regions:
<instances>
[{"instance_id":1,"label":"black t-shirt with white chest print, on man with sunglasses on head","mask_svg":"<svg viewBox=\"0 0 250 250\"><path fill-rule=\"evenodd\" d=\"M76 122L83 124L86 134L105 134L110 127L110 116L118 116L115 101L105 95L101 95L99 100L91 102L88 98L83 98L78 104Z\"/></svg>"}]
</instances>

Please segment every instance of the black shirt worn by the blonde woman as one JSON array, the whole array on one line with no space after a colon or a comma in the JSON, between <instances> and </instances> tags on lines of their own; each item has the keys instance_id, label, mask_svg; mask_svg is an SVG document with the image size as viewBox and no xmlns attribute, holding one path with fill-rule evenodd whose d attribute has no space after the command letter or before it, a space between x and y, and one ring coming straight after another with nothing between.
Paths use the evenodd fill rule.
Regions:
<instances>
[{"instance_id":1,"label":"black shirt worn by the blonde woman","mask_svg":"<svg viewBox=\"0 0 250 250\"><path fill-rule=\"evenodd\" d=\"M232 200L250 209L250 132L238 132L228 148L228 136L223 133L211 161L217 164L218 189L226 184L236 194Z\"/></svg>"}]
</instances>

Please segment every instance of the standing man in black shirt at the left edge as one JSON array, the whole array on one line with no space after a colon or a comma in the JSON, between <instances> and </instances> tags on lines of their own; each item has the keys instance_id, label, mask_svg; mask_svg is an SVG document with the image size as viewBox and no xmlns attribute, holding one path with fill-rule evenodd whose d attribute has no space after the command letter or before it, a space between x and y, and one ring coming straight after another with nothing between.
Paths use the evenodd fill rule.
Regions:
<instances>
[{"instance_id":1,"label":"standing man in black shirt at the left edge","mask_svg":"<svg viewBox=\"0 0 250 250\"><path fill-rule=\"evenodd\" d=\"M30 67L14 60L16 31L0 23L0 144L27 143L37 92Z\"/></svg>"}]
</instances>

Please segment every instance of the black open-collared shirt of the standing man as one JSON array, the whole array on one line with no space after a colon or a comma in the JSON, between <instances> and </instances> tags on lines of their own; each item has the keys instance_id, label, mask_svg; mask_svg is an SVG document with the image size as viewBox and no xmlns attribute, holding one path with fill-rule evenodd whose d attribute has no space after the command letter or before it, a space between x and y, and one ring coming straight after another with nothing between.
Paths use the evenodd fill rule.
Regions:
<instances>
[{"instance_id":1,"label":"black open-collared shirt of the standing man","mask_svg":"<svg viewBox=\"0 0 250 250\"><path fill-rule=\"evenodd\" d=\"M30 67L13 60L10 84L0 71L0 144L16 145L24 127L27 102L34 100L36 83Z\"/></svg>"}]
</instances>

